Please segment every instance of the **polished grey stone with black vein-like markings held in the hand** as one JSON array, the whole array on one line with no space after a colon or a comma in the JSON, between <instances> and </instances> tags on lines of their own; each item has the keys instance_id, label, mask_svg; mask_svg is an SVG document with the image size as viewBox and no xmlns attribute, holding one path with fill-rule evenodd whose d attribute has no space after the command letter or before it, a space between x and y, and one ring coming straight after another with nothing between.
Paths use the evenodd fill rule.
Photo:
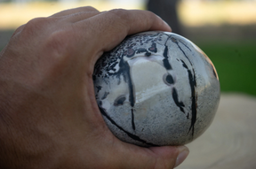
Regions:
<instances>
[{"instance_id":1,"label":"polished grey stone with black vein-like markings held in the hand","mask_svg":"<svg viewBox=\"0 0 256 169\"><path fill-rule=\"evenodd\" d=\"M210 126L220 101L211 60L168 32L128 36L97 61L93 81L112 133L145 147L192 142Z\"/></svg>"}]
</instances>

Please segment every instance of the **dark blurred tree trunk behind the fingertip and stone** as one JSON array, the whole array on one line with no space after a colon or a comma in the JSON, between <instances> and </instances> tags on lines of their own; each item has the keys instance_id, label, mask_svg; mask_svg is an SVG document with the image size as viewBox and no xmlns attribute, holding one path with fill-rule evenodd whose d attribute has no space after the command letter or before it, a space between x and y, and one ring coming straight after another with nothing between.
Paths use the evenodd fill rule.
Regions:
<instances>
[{"instance_id":1,"label":"dark blurred tree trunk behind the fingertip and stone","mask_svg":"<svg viewBox=\"0 0 256 169\"><path fill-rule=\"evenodd\" d=\"M172 32L183 35L177 12L179 0L148 0L147 9L164 19L171 27Z\"/></svg>"}]
</instances>

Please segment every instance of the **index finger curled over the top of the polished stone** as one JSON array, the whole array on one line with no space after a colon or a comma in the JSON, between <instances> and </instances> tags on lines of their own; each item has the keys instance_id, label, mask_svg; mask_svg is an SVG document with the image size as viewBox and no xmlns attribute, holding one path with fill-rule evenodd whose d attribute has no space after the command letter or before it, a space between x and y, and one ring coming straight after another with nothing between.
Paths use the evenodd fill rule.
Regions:
<instances>
[{"instance_id":1,"label":"index finger curled over the top of the polished stone","mask_svg":"<svg viewBox=\"0 0 256 169\"><path fill-rule=\"evenodd\" d=\"M87 35L93 35L90 43L96 46L92 46L91 49L98 51L98 53L96 54L97 57L93 58L92 65L95 64L102 52L112 50L124 40L126 35L148 30L172 31L171 27L154 13L138 10L102 12L93 18L76 22L76 24L77 27L80 27L76 34L79 37L82 36L81 39L84 40L84 42L81 42L82 45L88 45ZM84 31L86 31L86 34L84 34Z\"/></svg>"}]
</instances>

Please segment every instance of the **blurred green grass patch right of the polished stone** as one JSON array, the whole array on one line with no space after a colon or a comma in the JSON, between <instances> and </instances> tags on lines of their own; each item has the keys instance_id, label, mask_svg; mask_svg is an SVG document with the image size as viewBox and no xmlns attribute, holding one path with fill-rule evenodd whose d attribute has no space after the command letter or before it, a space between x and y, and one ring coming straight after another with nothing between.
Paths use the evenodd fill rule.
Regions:
<instances>
[{"instance_id":1,"label":"blurred green grass patch right of the polished stone","mask_svg":"<svg viewBox=\"0 0 256 169\"><path fill-rule=\"evenodd\" d=\"M256 96L255 42L197 42L217 69L222 92Z\"/></svg>"}]
</instances>

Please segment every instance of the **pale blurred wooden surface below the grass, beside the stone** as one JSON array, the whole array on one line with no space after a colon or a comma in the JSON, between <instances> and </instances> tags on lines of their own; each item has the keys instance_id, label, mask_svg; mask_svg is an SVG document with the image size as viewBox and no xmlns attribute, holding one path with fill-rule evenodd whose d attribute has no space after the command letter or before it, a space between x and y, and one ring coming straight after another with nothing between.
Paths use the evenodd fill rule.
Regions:
<instances>
[{"instance_id":1,"label":"pale blurred wooden surface below the grass, beside the stone","mask_svg":"<svg viewBox=\"0 0 256 169\"><path fill-rule=\"evenodd\" d=\"M212 125L177 169L256 168L256 97L224 94Z\"/></svg>"}]
</instances>

